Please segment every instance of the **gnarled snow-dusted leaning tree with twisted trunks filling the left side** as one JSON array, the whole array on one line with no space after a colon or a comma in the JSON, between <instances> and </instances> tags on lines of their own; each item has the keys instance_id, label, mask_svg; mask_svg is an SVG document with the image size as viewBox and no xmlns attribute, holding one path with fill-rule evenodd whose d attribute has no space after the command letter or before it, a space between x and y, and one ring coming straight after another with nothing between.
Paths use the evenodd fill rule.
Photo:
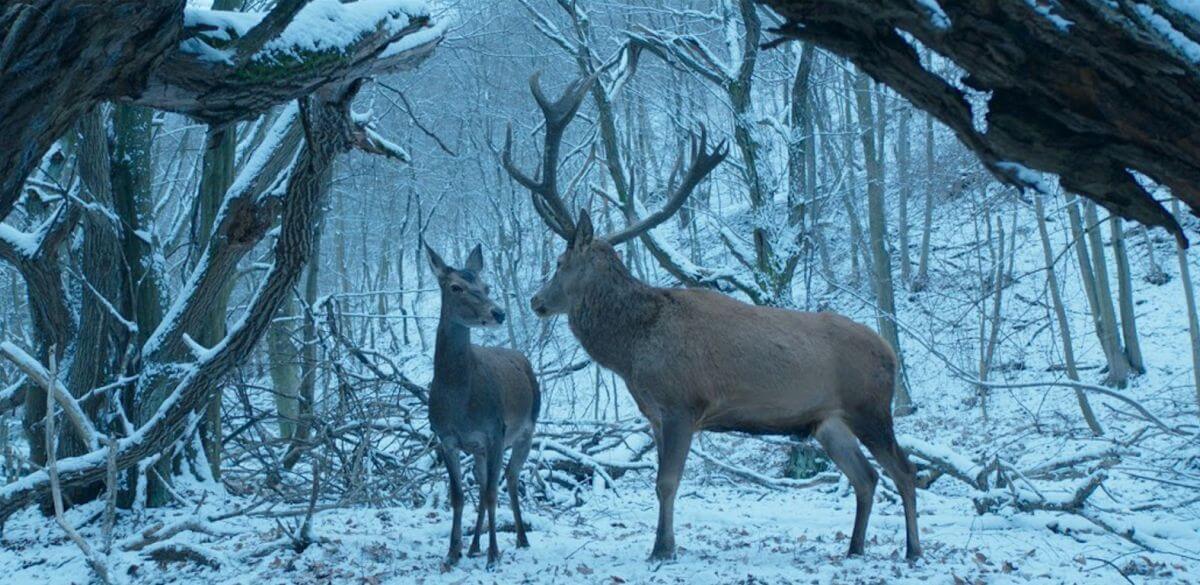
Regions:
<instances>
[{"instance_id":1,"label":"gnarled snow-dusted leaning tree with twisted trunks filling the left side","mask_svg":"<svg viewBox=\"0 0 1200 585\"><path fill-rule=\"evenodd\" d=\"M56 465L64 489L96 486L118 469L149 480L149 462L194 436L221 379L251 355L311 257L336 157L352 149L404 157L352 113L355 95L372 76L424 61L444 31L412 0L278 0L265 13L185 5L30 0L0 8L0 260L24 279L35 343L34 355L0 344L25 376L0 390L0 408L24 398L30 432L44 417L47 392L62 409L64 439L74 445ZM138 146L106 135L106 102L116 104L114 123L121 108L137 105L191 116L210 135L278 110L227 173L210 229L197 236L203 248L173 297L143 294L152 275L133 275L150 261L136 223L145 201L122 199L131 189L114 167ZM43 180L62 144L78 186ZM217 150L206 150L205 164ZM5 219L23 200L54 209L44 217L25 210L22 229ZM83 254L72 266L64 248L76 235ZM260 243L271 251L265 277L240 318L203 340L198 332L239 261ZM156 313L139 302L162 306ZM43 364L54 362L65 379L48 375ZM49 489L44 468L0 488L0 523Z\"/></svg>"}]
</instances>

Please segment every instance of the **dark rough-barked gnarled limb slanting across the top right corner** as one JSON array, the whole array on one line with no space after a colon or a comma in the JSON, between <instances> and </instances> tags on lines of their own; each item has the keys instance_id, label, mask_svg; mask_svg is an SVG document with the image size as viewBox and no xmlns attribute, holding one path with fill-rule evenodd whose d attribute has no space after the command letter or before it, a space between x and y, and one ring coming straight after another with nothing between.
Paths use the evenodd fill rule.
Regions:
<instances>
[{"instance_id":1,"label":"dark rough-barked gnarled limb slanting across the top right corner","mask_svg":"<svg viewBox=\"0 0 1200 585\"><path fill-rule=\"evenodd\" d=\"M1109 211L1163 227L1174 217L1132 171L1200 213L1200 23L1170 0L1057 2L763 0L786 38L822 46L929 111L1001 180L1027 169ZM991 92L986 128L961 90L922 66L911 35Z\"/></svg>"}]
</instances>

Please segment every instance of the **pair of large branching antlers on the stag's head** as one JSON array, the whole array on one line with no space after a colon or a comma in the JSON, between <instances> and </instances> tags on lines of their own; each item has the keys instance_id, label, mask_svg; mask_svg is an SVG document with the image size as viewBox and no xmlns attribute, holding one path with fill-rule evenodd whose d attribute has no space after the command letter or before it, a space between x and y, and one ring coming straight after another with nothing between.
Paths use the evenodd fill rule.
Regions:
<instances>
[{"instance_id":1,"label":"pair of large branching antlers on the stag's head","mask_svg":"<svg viewBox=\"0 0 1200 585\"><path fill-rule=\"evenodd\" d=\"M568 241L575 235L575 221L571 218L571 212L566 209L566 204L563 203L563 197L558 192L558 151L563 143L563 132L580 110L583 97L587 96L587 92L592 89L592 84L596 80L596 74L593 73L592 76L571 82L563 91L562 97L554 102L547 99L546 95L541 91L541 84L539 83L541 72L529 77L529 90L533 92L533 98L538 102L538 108L541 109L541 114L546 119L541 180L535 181L530 179L512 164L511 125L509 125L508 135L504 139L504 150L500 153L500 162L504 164L504 170L533 193L533 206L538 211L538 215L541 216L551 230ZM691 139L691 165L684 173L683 181L672 191L671 197L667 198L662 209L642 219L629 217L630 224L628 227L605 236L605 240L616 246L632 240L667 221L676 211L679 211L679 207L691 195L696 185L700 185L725 159L728 152L725 140L721 140L715 149L709 150L708 131L704 128L704 125L701 125L700 138L692 137ZM677 170L682 165L682 157L676 161Z\"/></svg>"}]
</instances>

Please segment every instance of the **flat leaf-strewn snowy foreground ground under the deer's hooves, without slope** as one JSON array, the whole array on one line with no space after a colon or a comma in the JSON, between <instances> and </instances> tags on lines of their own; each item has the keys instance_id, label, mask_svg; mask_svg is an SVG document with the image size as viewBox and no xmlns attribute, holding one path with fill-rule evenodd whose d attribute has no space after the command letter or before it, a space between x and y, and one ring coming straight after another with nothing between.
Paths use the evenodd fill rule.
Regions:
<instances>
[{"instance_id":1,"label":"flat leaf-strewn snowy foreground ground under the deer's hooves, without slope","mask_svg":"<svg viewBox=\"0 0 1200 585\"><path fill-rule=\"evenodd\" d=\"M680 490L680 551L677 561L666 563L646 561L654 536L653 486L630 481L619 491L608 490L578 508L547 509L534 503L528 514L534 529L532 548L515 549L512 533L502 533L503 556L492 573L485 571L481 557L464 557L456 568L442 572L450 515L433 508L319 512L313 531L325 542L300 554L276 547L258 557L264 545L280 543L275 521L232 519L214 526L230 536L185 533L172 539L179 549L162 559L174 560L122 553L113 556L112 567L140 583L247 584L1116 583L1121 580L1117 568L1136 581L1194 583L1200 578L1195 561L1130 550L1116 536L1090 531L1086 521L1057 514L980 517L961 497L929 491L920 495L924 559L908 565L902 557L904 518L894 497L876 501L865 556L847 559L846 533L854 505L842 486L755 493L719 483L690 482ZM209 501L198 513L154 512L138 524L169 525L234 506ZM82 523L97 511L86 506L68 518ZM509 518L506 512L500 515ZM1048 529L1054 524L1058 533ZM98 542L98 523L83 533ZM185 550L198 551L218 566L186 560ZM86 583L89 572L58 526L28 511L7 530L0 574L7 575L6 583L50 585Z\"/></svg>"}]
</instances>

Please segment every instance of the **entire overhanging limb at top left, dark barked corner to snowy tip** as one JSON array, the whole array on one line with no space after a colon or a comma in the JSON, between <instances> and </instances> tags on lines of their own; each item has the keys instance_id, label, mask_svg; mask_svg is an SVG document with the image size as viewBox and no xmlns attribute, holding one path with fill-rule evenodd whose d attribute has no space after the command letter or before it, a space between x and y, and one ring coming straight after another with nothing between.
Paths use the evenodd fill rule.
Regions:
<instances>
[{"instance_id":1,"label":"entire overhanging limb at top left, dark barked corner to snowy tip","mask_svg":"<svg viewBox=\"0 0 1200 585\"><path fill-rule=\"evenodd\" d=\"M209 123L414 67L444 29L408 0L287 0L269 13L184 0L29 0L0 7L0 218L74 120L128 101Z\"/></svg>"}]
</instances>

